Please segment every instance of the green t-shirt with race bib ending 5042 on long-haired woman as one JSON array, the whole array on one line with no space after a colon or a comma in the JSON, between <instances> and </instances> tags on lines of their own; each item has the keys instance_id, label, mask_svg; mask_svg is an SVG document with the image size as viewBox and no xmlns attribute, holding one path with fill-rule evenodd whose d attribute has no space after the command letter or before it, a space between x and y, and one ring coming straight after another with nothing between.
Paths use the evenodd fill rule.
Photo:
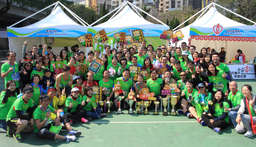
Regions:
<instances>
[{"instance_id":1,"label":"green t-shirt with race bib ending 5042 on long-haired woman","mask_svg":"<svg viewBox=\"0 0 256 147\"><path fill-rule=\"evenodd\" d=\"M209 76L209 82L214 84L213 91L216 91L217 89L221 89L224 93L225 90L227 90L227 80L226 78L222 77L222 74L224 72L222 70L219 70L217 75L211 75Z\"/></svg>"}]
</instances>

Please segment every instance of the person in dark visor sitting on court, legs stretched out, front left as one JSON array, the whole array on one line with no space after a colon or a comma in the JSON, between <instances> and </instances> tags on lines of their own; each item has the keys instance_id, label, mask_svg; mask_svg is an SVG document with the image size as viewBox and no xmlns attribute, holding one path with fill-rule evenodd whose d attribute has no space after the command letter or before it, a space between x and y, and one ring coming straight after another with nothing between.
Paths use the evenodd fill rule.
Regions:
<instances>
[{"instance_id":1,"label":"person in dark visor sitting on court, legs stretched out, front left","mask_svg":"<svg viewBox=\"0 0 256 147\"><path fill-rule=\"evenodd\" d=\"M49 138L49 139L63 139L66 142L75 141L76 137L79 137L82 132L75 132L71 129L70 122L66 115L60 115L57 110L51 107L50 98L48 95L43 94L39 97L40 107L33 113L33 119L35 121L34 130L36 136L38 138ZM64 127L68 130L68 134L66 136L58 135L54 132L49 131L52 124L49 121L52 119L51 114L55 114L57 117L53 120L55 122L55 126L58 127L61 122L63 122Z\"/></svg>"}]
</instances>

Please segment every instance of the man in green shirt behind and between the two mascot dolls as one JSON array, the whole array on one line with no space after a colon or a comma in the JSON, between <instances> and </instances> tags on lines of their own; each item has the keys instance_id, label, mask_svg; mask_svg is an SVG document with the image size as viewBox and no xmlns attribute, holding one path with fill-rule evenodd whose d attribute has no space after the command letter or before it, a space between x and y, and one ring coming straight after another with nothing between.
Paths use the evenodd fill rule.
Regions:
<instances>
[{"instance_id":1,"label":"man in green shirt behind and between the two mascot dolls","mask_svg":"<svg viewBox=\"0 0 256 147\"><path fill-rule=\"evenodd\" d=\"M133 87L133 82L131 79L129 79L129 75L130 75L129 69L125 68L123 70L123 77L117 78L117 80L120 80L119 82L123 83L123 86L121 87L121 89L123 90L123 94L124 94L125 98L128 97L128 94L130 91L132 91L131 88ZM114 103L115 103L115 105L117 105L117 107L115 107L115 108L118 108L117 102L118 102L118 100L115 99ZM122 100L122 104L124 105L125 110L130 109L130 105L127 102L125 102L124 99ZM134 105L135 105L135 103L134 103Z\"/></svg>"}]
</instances>

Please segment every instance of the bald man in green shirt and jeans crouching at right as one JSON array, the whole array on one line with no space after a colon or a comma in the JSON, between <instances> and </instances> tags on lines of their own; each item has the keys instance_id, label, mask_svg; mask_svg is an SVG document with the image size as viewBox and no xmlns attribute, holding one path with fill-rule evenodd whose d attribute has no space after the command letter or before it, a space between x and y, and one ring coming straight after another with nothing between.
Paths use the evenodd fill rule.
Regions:
<instances>
[{"instance_id":1,"label":"bald man in green shirt and jeans crouching at right","mask_svg":"<svg viewBox=\"0 0 256 147\"><path fill-rule=\"evenodd\" d=\"M237 83L235 81L230 82L229 89L231 90L231 92L229 92L228 94L228 90L226 90L225 93L225 98L228 99L229 103L229 109L227 109L226 111L229 113L229 117L231 118L229 119L229 123L230 120L232 120L232 123L236 127L237 111L240 108L241 100L244 95L237 89Z\"/></svg>"}]
</instances>

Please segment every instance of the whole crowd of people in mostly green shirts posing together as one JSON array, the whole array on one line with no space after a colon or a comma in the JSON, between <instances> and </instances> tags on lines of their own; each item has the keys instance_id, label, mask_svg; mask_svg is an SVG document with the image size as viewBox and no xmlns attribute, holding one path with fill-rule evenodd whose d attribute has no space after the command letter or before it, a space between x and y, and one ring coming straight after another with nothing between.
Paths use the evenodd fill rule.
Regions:
<instances>
[{"instance_id":1,"label":"whole crowd of people in mostly green shirts posing together","mask_svg":"<svg viewBox=\"0 0 256 147\"><path fill-rule=\"evenodd\" d=\"M201 125L207 125L218 133L232 124L238 133L247 131L244 136L254 135L248 112L256 123L255 95L251 93L250 85L244 85L241 91L238 89L229 68L222 63L225 60L224 48L221 53L209 47L198 53L195 46L187 46L185 42L181 47L175 43L174 47L161 45L156 49L146 44L143 41L141 46L129 48L119 45L117 49L105 45L105 54L98 50L90 51L86 58L86 53L78 45L71 47L71 52L64 47L54 55L47 45L43 48L42 45L39 48L34 45L31 51L26 51L27 41L24 42L24 57L17 63L16 53L8 52L8 62L2 65L5 90L0 96L0 127L17 142L23 141L21 131L34 132L39 138L73 141L81 135L80 131L71 129L75 121L87 123L107 116L104 114L107 108L102 110L91 103L95 100L91 86L102 87L102 100L114 103L111 111L117 110L119 105L125 110L130 108L124 99L120 103L115 97L114 80L120 80L124 98L134 91L136 101L141 101L139 92L142 88L148 87L149 92L154 92L156 100L161 102L164 85L176 83L181 95L177 103L180 106L178 114L195 118ZM88 70L82 74L76 66L83 62L89 67L97 58L102 66L95 74ZM54 65L59 61L64 62L63 68ZM135 73L129 70L130 65L150 71L151 77L147 79L137 74L135 79ZM167 70L160 72L162 68ZM73 79L73 75L76 78ZM153 109L153 104L147 109ZM198 116L195 105L202 107L202 115ZM136 109L135 103L132 108ZM50 123L51 120L54 123ZM68 134L61 136L52 132L53 125L61 125Z\"/></svg>"}]
</instances>

